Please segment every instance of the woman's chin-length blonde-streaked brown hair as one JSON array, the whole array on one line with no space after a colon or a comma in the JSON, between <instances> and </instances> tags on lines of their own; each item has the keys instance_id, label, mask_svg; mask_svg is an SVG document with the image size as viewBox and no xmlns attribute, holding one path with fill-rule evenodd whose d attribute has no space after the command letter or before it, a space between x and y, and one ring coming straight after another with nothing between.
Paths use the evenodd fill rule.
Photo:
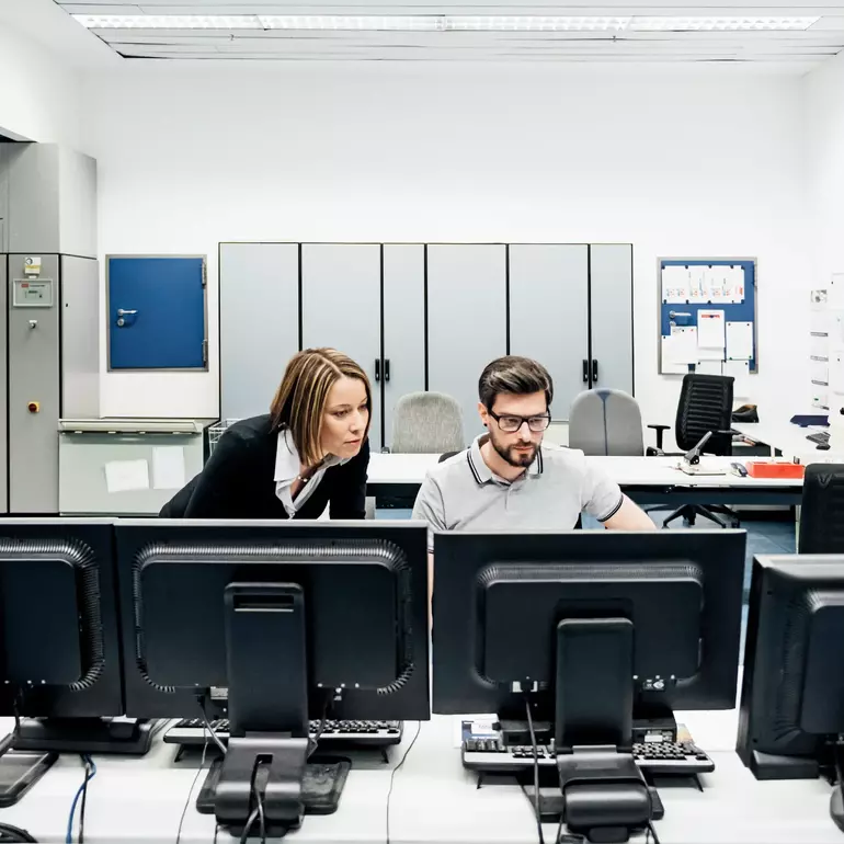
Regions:
<instances>
[{"instance_id":1,"label":"woman's chin-length blonde-streaked brown hair","mask_svg":"<svg viewBox=\"0 0 844 844\"><path fill-rule=\"evenodd\" d=\"M358 364L335 349L305 349L295 354L275 392L270 406L273 431L290 432L299 459L306 466L313 466L322 458L320 434L328 394L343 377L363 381L369 408L366 437L373 407L369 379Z\"/></svg>"}]
</instances>

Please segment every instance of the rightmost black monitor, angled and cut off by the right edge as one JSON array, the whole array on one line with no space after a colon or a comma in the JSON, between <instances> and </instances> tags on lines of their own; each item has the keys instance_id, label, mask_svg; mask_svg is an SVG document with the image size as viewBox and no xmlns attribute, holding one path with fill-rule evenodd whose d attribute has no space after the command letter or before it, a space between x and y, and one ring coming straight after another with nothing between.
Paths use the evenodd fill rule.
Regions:
<instances>
[{"instance_id":1,"label":"rightmost black monitor, angled and cut off by the right edge","mask_svg":"<svg viewBox=\"0 0 844 844\"><path fill-rule=\"evenodd\" d=\"M842 733L844 557L757 557L739 756L757 779L803 779L819 773L836 779Z\"/></svg>"}]
</instances>

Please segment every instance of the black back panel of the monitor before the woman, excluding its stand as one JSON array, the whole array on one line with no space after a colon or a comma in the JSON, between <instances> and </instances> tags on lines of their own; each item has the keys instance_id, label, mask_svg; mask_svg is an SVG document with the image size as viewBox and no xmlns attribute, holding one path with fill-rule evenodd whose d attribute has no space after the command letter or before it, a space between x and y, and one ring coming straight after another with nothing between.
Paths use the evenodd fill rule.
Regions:
<instances>
[{"instance_id":1,"label":"black back panel of the monitor before the woman, excluding its stand","mask_svg":"<svg viewBox=\"0 0 844 844\"><path fill-rule=\"evenodd\" d=\"M309 715L422 719L426 529L418 523L121 521L116 529L127 715L224 716L224 592L293 583L305 595ZM267 665L267 671L284 670Z\"/></svg>"}]
</instances>

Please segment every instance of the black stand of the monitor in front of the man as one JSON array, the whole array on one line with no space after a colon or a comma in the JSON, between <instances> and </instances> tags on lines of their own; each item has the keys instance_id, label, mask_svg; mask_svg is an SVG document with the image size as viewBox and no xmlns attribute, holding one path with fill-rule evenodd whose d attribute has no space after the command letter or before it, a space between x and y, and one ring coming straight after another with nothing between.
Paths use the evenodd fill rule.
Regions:
<instances>
[{"instance_id":1,"label":"black stand of the monitor in front of the man","mask_svg":"<svg viewBox=\"0 0 844 844\"><path fill-rule=\"evenodd\" d=\"M626 842L653 818L631 752L632 676L632 621L558 624L555 751L562 817L591 842Z\"/></svg>"}]
</instances>

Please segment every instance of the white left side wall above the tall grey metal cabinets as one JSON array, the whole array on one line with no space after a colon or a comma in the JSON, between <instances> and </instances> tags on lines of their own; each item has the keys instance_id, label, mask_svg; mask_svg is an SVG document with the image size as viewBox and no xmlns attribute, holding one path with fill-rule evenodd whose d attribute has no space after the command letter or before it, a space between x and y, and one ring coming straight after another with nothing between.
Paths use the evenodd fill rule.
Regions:
<instances>
[{"instance_id":1,"label":"white left side wall above the tall grey metal cabinets","mask_svg":"<svg viewBox=\"0 0 844 844\"><path fill-rule=\"evenodd\" d=\"M66 61L0 21L0 134L81 150L80 83Z\"/></svg>"}]
</instances>

